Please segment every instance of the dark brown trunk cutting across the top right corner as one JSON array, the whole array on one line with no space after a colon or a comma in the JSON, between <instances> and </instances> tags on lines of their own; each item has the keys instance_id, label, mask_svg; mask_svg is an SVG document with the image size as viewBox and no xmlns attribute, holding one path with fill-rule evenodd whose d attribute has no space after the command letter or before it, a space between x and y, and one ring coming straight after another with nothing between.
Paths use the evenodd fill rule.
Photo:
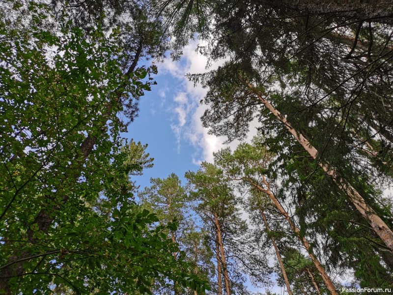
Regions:
<instances>
[{"instance_id":1,"label":"dark brown trunk cutting across the top right corner","mask_svg":"<svg viewBox=\"0 0 393 295\"><path fill-rule=\"evenodd\" d=\"M304 14L334 13L351 20L393 23L391 0L263 0L262 2L271 7L289 7Z\"/></svg>"}]
</instances>

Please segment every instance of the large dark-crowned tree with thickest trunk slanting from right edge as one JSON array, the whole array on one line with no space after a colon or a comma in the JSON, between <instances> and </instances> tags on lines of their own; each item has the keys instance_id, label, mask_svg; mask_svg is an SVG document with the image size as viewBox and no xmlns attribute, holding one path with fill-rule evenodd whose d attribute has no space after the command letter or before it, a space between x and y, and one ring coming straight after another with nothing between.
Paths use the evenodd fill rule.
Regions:
<instances>
[{"instance_id":1,"label":"large dark-crowned tree with thickest trunk slanting from right edge","mask_svg":"<svg viewBox=\"0 0 393 295\"><path fill-rule=\"evenodd\" d=\"M353 7L351 4L351 9L348 9L349 4L344 2L342 6L334 6L337 7L335 13L330 10L329 4L332 4L330 1L323 2L318 6L319 10L312 2L291 4L291 1L280 3L240 1L231 5L231 1L227 1L213 5L212 16L215 18L215 25L211 32L214 41L204 52L211 59L229 56L231 61L211 75L191 76L195 81L201 79L204 85L211 89L204 102L211 105L212 109L208 110L203 117L204 124L206 127L212 127L212 132L217 135L227 135L229 140L243 136L248 130L250 121L255 117L261 119L261 115L257 111L259 102L253 99L253 94L269 108L265 103L267 100L261 100L261 98L265 98L265 94L270 93L270 90L266 89L273 87L272 78L280 81L282 90L274 91L277 95L271 95L270 98L280 103L286 101L285 109L293 107L291 100L294 100L295 97L298 98L300 93L304 93L304 97L310 103L308 105L303 103L299 97L297 99L300 100L297 102L298 106L292 108L291 113L294 115L287 114L294 121L291 123L292 133L300 132L297 128L298 125L308 128L312 126L312 135L318 136L322 139L320 142L324 143L321 147L323 151L318 157L325 158L325 162L318 159L318 163L321 163L321 167L328 175L336 179L337 185L348 193L356 209L368 220L388 248L393 250L391 224L386 221L386 218L384 220L384 216L378 215L377 211L381 211L381 208L373 208L375 203L368 204L368 196L362 196L353 184L348 183L337 174L337 170L342 167L338 168L338 166L342 164L337 161L339 165L335 165L334 161L330 161L329 158L333 155L328 151L334 149L326 148L328 145L333 146L335 140L342 143L345 150L340 158L351 156L351 160L354 163L356 161L356 164L360 166L364 162L360 158L364 158L365 153L367 157L375 158L377 156L372 145L368 144L371 151L362 148L365 142L368 143L370 138L375 137L375 133L369 128L370 125L375 124L373 120L378 118L381 128L377 128L377 134L381 135L385 133L383 130L386 130L386 127L392 123L391 119L381 118L381 109L375 112L375 108L369 106L369 98L375 97L385 108L385 104L380 100L381 95L378 93L385 86L390 88L391 83L390 66L386 67L392 58L392 51L388 48L391 36L382 29L386 28L385 25L379 24L376 27L371 25L371 21L376 19L373 11L387 8L386 5L389 4L383 1L377 7L367 6L367 9L364 9L365 14L368 13L366 19L356 19L357 17L353 15L353 12L360 8L360 4L359 7ZM307 8L309 8L310 15L302 15L305 10L307 11ZM385 14L381 11L379 10L377 19L386 20L389 23L389 17L391 17L389 12ZM352 18L355 18L353 23L347 24L348 12L352 14ZM327 13L327 17L320 15L321 13ZM284 22L282 19L289 21ZM369 22L368 31L363 27L365 21ZM357 24L357 29L355 37L353 37L353 45L348 48L349 43L343 40L350 40L350 36L345 33L338 34L337 29L341 27L352 29L351 25L353 24ZM359 35L366 32L368 33L365 35L365 38L368 38L368 46L362 46L362 43L357 46L360 40ZM276 42L276 40L280 40L280 42ZM337 43L340 44L338 47L340 52L336 49ZM379 45L374 47L376 43ZM337 55L332 55L336 52ZM348 52L343 60L335 58L342 56L343 52ZM354 52L359 55L353 56ZM329 58L329 62L326 62L325 58ZM347 60L349 61L347 62ZM234 69L228 69L230 67ZM321 73L330 73L327 75L329 79L322 77ZM335 78L337 73L339 73L339 79ZM229 78L228 75L232 74L234 76ZM212 79L214 75L221 77L214 80ZM243 86L239 86L233 92L225 93L226 90L229 90L229 88L225 90L226 85L236 84L239 75ZM224 81L222 81L223 79ZM253 84L253 82L256 83ZM219 83L224 90L220 94L215 93L214 90L216 88L214 84ZM306 87L304 87L305 84ZM242 87L248 87L250 91L245 90L244 95L237 96L239 99L230 100L230 96L236 97L238 94L236 91L242 91L240 90ZM255 89L262 90L259 96L255 93ZM346 93L350 94L346 95ZM218 98L220 95L224 95L226 98L220 100ZM332 100L335 100L335 103L332 104ZM363 101L365 103L362 103ZM272 106L270 103L269 105ZM328 106L326 107L326 105ZM365 108L365 106L367 107ZM330 109L337 109L337 111L332 112ZM386 110L389 111L389 109L390 107L387 106ZM277 109L270 108L270 110L273 111L273 114L278 114ZM309 116L297 116L301 111L308 110L311 110ZM373 113L372 119L369 120L370 123L363 124L362 128L359 128L359 114L365 115L370 112ZM389 112L391 113L391 110ZM220 124L221 121L224 123ZM318 128L314 128L317 125ZM331 133L314 135L315 130L324 129L322 126L332 130ZM309 135L311 135L310 131ZM301 134L299 138L301 137L306 138L307 135ZM352 138L356 138L355 143ZM348 139L348 141L344 139ZM302 144L306 147L309 143L307 140L307 143ZM381 140L382 143L383 140ZM354 153L354 147L361 151L360 154ZM315 151L318 151L318 148ZM311 153L311 156L316 158L317 154ZM387 162L382 162L387 164ZM330 165L333 165L333 168L329 167ZM380 168L377 167L377 169ZM386 214L386 210L382 210L385 211L382 214Z\"/></svg>"}]
</instances>

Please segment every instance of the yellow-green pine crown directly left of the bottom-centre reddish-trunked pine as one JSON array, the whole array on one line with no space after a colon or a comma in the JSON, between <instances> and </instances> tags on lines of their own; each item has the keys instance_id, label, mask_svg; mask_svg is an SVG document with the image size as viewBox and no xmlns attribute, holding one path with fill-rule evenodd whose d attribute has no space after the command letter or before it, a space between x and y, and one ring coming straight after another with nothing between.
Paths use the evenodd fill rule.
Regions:
<instances>
[{"instance_id":1,"label":"yellow-green pine crown directly left of the bottom-centre reddish-trunked pine","mask_svg":"<svg viewBox=\"0 0 393 295\"><path fill-rule=\"evenodd\" d=\"M167 227L164 233L178 249L172 252L175 260L187 260L188 271L201 279L206 278L206 267L198 267L205 258L204 249L200 245L201 232L195 231L192 217L188 214L188 195L181 185L180 179L171 174L167 178L151 178L151 186L146 187L138 194L140 204L149 211L154 212L159 218L154 226ZM153 227L154 227L153 226ZM168 282L165 278L156 279L154 294L193 294L190 286L180 286L175 280ZM203 291L201 291L203 292ZM202 293L201 293L202 294Z\"/></svg>"}]
</instances>

